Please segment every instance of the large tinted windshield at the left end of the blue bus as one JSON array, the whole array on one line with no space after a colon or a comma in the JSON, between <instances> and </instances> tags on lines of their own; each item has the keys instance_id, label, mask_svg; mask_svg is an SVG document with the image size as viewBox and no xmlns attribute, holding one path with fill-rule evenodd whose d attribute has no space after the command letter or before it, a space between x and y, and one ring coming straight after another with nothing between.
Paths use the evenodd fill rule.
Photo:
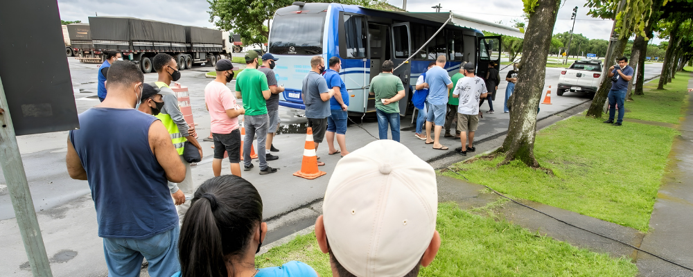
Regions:
<instances>
[{"instance_id":1,"label":"large tinted windshield at the left end of the blue bus","mask_svg":"<svg viewBox=\"0 0 693 277\"><path fill-rule=\"evenodd\" d=\"M280 55L322 54L325 12L275 15L270 32L269 52Z\"/></svg>"}]
</instances>

